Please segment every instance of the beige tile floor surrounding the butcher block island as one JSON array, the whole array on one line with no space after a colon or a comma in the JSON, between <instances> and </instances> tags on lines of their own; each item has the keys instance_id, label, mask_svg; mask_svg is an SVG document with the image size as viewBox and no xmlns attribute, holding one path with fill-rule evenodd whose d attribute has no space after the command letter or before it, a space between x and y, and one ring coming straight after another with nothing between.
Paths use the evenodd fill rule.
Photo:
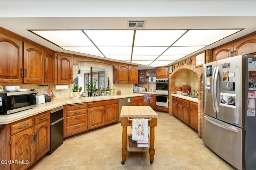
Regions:
<instances>
[{"instance_id":1,"label":"beige tile floor surrounding the butcher block island","mask_svg":"<svg viewBox=\"0 0 256 170\"><path fill-rule=\"evenodd\" d=\"M168 113L157 113L153 164L148 152L128 152L121 164L122 127L117 123L64 140L32 170L233 170L203 145L195 130Z\"/></svg>"}]
</instances>

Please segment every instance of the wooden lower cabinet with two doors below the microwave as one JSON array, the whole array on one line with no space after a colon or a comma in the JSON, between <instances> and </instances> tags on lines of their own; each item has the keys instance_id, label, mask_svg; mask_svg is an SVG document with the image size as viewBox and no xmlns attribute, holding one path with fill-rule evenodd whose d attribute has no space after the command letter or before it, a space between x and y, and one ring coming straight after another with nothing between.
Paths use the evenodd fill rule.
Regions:
<instances>
[{"instance_id":1,"label":"wooden lower cabinet with two doors below the microwave","mask_svg":"<svg viewBox=\"0 0 256 170\"><path fill-rule=\"evenodd\" d=\"M6 160L17 161L7 169L26 170L50 150L50 111L7 127L10 128L10 159Z\"/></svg>"}]
</instances>

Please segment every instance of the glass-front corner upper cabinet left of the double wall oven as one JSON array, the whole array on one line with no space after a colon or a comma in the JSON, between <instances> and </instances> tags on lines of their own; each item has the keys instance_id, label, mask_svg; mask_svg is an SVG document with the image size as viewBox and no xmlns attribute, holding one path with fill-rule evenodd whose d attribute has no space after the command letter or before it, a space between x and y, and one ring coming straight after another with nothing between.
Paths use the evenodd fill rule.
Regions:
<instances>
[{"instance_id":1,"label":"glass-front corner upper cabinet left of the double wall oven","mask_svg":"<svg viewBox=\"0 0 256 170\"><path fill-rule=\"evenodd\" d=\"M155 83L156 69L139 70L139 83Z\"/></svg>"}]
</instances>

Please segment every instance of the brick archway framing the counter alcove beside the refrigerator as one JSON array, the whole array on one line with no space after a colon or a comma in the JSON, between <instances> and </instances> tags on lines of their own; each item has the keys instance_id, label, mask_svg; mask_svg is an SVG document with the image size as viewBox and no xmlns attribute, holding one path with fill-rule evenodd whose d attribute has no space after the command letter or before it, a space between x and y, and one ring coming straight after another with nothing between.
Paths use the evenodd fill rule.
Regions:
<instances>
[{"instance_id":1,"label":"brick archway framing the counter alcove beside the refrigerator","mask_svg":"<svg viewBox=\"0 0 256 170\"><path fill-rule=\"evenodd\" d=\"M202 67L198 67L201 68ZM178 76L178 74L184 70L184 69L189 69L191 71L194 71L198 75L198 138L202 138L202 98L201 98L201 92L202 92L202 70L195 68L194 66L191 65L180 65L176 68L174 68L172 74L169 75L169 114L172 114L172 96L175 92L175 79Z\"/></svg>"}]
</instances>

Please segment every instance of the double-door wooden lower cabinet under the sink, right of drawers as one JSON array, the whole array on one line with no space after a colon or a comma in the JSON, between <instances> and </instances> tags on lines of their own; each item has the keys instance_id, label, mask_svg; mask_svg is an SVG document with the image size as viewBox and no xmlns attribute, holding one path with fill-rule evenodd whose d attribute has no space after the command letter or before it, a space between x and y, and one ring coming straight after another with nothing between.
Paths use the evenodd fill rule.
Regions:
<instances>
[{"instance_id":1,"label":"double-door wooden lower cabinet under the sink, right of drawers","mask_svg":"<svg viewBox=\"0 0 256 170\"><path fill-rule=\"evenodd\" d=\"M118 99L88 103L88 130L115 123L118 119Z\"/></svg>"}]
</instances>

